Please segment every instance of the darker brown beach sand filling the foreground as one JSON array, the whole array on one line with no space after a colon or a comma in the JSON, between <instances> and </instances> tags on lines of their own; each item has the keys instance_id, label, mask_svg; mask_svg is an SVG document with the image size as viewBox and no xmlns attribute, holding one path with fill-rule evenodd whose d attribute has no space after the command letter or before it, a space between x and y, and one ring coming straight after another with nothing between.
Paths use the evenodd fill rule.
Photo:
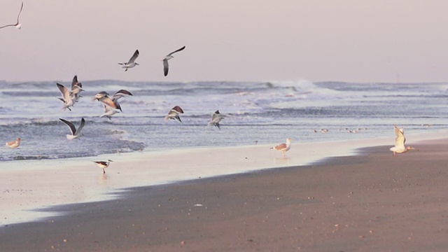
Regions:
<instances>
[{"instance_id":1,"label":"darker brown beach sand filling the foreground","mask_svg":"<svg viewBox=\"0 0 448 252\"><path fill-rule=\"evenodd\" d=\"M126 190L0 228L0 251L446 251L447 140Z\"/></svg>"}]
</instances>

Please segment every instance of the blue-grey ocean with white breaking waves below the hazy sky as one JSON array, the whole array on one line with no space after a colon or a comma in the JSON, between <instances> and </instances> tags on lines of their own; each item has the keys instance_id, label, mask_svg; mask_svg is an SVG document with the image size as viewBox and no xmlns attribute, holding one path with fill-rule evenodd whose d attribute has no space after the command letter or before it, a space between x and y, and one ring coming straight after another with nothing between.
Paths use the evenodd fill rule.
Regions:
<instances>
[{"instance_id":1,"label":"blue-grey ocean with white breaking waves below the hazy sky","mask_svg":"<svg viewBox=\"0 0 448 252\"><path fill-rule=\"evenodd\" d=\"M447 129L448 83L344 83L307 80L271 82L125 82L82 80L83 97L62 111L56 83L0 81L0 143L22 139L19 148L0 148L1 162L89 157L107 153L173 148L279 144L391 137L393 125L405 134ZM59 83L70 87L71 80ZM98 92L120 99L123 112L99 118ZM182 123L165 121L181 106ZM208 126L219 110L221 130ZM85 118L83 136L66 139ZM328 130L322 133L321 129ZM314 130L316 132L314 132Z\"/></svg>"}]
</instances>

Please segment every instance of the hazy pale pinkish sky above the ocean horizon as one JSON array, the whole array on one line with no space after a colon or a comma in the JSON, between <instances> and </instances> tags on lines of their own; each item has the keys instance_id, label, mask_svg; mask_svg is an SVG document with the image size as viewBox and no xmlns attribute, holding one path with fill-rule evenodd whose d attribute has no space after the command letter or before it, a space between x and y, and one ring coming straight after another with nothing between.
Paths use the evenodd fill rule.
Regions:
<instances>
[{"instance_id":1,"label":"hazy pale pinkish sky above the ocean horizon","mask_svg":"<svg viewBox=\"0 0 448 252\"><path fill-rule=\"evenodd\" d=\"M0 0L0 26L20 0ZM25 0L0 80L448 81L448 1ZM169 61L162 59L186 45ZM139 49L140 66L124 72Z\"/></svg>"}]
</instances>

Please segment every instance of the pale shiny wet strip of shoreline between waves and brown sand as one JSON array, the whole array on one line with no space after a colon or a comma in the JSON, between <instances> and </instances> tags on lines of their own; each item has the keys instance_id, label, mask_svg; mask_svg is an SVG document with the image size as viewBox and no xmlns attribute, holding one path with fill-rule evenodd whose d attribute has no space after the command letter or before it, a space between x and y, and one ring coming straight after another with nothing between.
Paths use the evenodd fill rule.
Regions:
<instances>
[{"instance_id":1,"label":"pale shiny wet strip of shoreline between waves and brown sand","mask_svg":"<svg viewBox=\"0 0 448 252\"><path fill-rule=\"evenodd\" d=\"M444 135L448 138L448 132ZM411 144L436 137L440 138L440 133L414 135ZM120 153L94 158L13 161L8 164L8 169L0 172L1 197L8 202L8 206L0 208L0 215L3 216L0 225L58 215L41 210L61 204L113 200L127 188L169 185L260 169L300 167L335 156L357 155L358 148L389 142L391 139L293 143L286 158L282 158L277 151L269 150L270 145L252 145ZM102 174L102 170L92 162L102 159L114 160L106 169L106 174ZM23 169L25 165L27 168Z\"/></svg>"}]
</instances>

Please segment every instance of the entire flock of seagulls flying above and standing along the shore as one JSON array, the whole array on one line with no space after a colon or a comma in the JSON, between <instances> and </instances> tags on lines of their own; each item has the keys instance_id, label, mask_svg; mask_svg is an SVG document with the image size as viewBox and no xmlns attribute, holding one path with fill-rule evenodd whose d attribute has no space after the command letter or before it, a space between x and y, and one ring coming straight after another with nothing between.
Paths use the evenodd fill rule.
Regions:
<instances>
[{"instance_id":1,"label":"entire flock of seagulls flying above and standing along the shore","mask_svg":"<svg viewBox=\"0 0 448 252\"><path fill-rule=\"evenodd\" d=\"M22 10L23 10L23 2L22 2L22 6L20 6L20 11L18 13L17 22L15 22L15 24L3 25L2 27L0 27L0 29L3 29L5 27L16 27L18 29L21 29L21 24L19 22L19 18L20 18L20 13L22 13ZM186 47L183 46L177 50L174 50L173 52L170 52L168 55L165 56L165 58L162 60L164 76L168 75L169 59L172 59L174 57L173 56L174 53L181 52L185 48ZM125 69L125 71L127 71L128 69L132 69L133 67L139 65L139 63L136 62L136 59L137 59L137 57L139 57L139 55L140 55L139 50L135 50L134 54L129 59L129 61L120 62L118 64L120 64L120 66L122 66L122 68ZM62 84L56 83L56 85L59 88L59 91L62 93L62 98L61 97L57 98L61 102L64 103L64 105L62 106L62 110L65 111L66 109L69 109L69 111L71 111L70 107L73 107L73 105L76 102L78 102L79 98L81 97L80 92L84 91L82 83L78 82L78 76L73 77L70 90L67 87L64 87L64 85L62 85ZM100 118L106 117L106 118L109 118L109 120L111 120L111 116L113 116L116 113L120 113L119 111L123 112L118 100L123 97L128 97L128 96L132 96L132 94L131 94L131 92L129 92L127 90L118 90L118 92L113 94L112 97L110 96L110 94L108 92L102 91L102 92L95 94L95 96L92 100L97 100L98 102L101 102L103 105L104 113L99 117ZM181 113L183 113L183 110L181 109L181 107L174 106L168 112L167 116L165 116L165 120L171 119L171 120L179 120L179 122L182 122L181 118L179 117L179 114L181 114ZM218 127L218 129L221 130L221 125L219 123L221 122L221 120L223 118L225 118L225 116L221 115L221 113L217 110L211 116L209 125L214 125L214 126ZM62 123L64 123L67 127L69 127L71 134L67 134L66 139L72 140L72 139L76 139L76 138L82 136L82 134L80 132L85 125L84 118L81 118L80 125L78 126L78 128L76 128L75 125L73 125L73 123L69 122L68 120L64 120L63 118L59 118L59 120L61 120ZM351 132L351 133L355 132L356 133L356 132L359 132L360 129L353 130L353 131L348 130L348 129L345 129L345 130L347 132ZM365 129L365 130L367 130L367 129ZM317 130L313 130L313 131L317 132ZM322 133L328 132L327 129L321 129L320 131ZM405 153L410 150L418 151L416 148L412 148L410 146L405 147L406 139L405 139L403 129L400 129L400 128L394 126L394 132L396 135L395 146L390 148L390 151L393 152L393 155L396 155L396 153ZM7 142L5 145L10 148L17 148L18 146L20 146L20 141L21 141L21 139L17 138L17 139L15 139L15 141ZM284 157L286 157L286 152L290 150L291 141L292 141L292 139L288 138L288 139L286 139L286 143L276 145L276 146L272 147L271 149L275 150L275 151L280 151L281 153L283 153L283 158L284 158ZM95 162L100 168L102 168L103 174L105 174L106 171L104 169L106 167L109 167L110 162L113 162L113 161L108 160L108 161L93 161L93 162Z\"/></svg>"}]
</instances>

